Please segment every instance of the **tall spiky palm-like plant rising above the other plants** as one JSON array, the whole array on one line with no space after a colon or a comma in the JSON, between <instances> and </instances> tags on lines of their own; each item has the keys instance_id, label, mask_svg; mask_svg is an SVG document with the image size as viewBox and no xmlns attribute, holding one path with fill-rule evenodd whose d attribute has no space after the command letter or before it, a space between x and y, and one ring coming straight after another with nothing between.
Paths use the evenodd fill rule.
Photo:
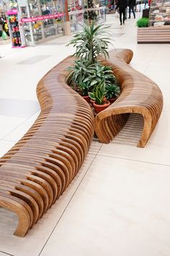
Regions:
<instances>
[{"instance_id":1,"label":"tall spiky palm-like plant rising above the other plants","mask_svg":"<svg viewBox=\"0 0 170 256\"><path fill-rule=\"evenodd\" d=\"M86 59L89 64L94 64L97 61L97 56L109 56L107 48L111 43L112 36L107 32L104 25L97 25L94 22L91 25L84 25L83 31L76 33L73 40L67 46L73 45L76 47L76 53L73 54L77 59Z\"/></svg>"}]
</instances>

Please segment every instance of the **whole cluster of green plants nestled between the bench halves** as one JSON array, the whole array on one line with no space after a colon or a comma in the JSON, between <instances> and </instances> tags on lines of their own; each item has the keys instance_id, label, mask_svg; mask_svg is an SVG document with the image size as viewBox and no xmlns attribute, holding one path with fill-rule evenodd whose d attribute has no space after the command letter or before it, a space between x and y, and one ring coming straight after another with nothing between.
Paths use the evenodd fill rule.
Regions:
<instances>
[{"instance_id":1,"label":"whole cluster of green plants nestled between the bench halves","mask_svg":"<svg viewBox=\"0 0 170 256\"><path fill-rule=\"evenodd\" d=\"M97 59L99 56L105 59L109 57L107 48L112 36L107 33L107 28L104 25L95 26L94 22L89 26L84 25L83 30L68 43L68 46L76 47L74 66L68 68L71 71L67 78L68 84L73 84L74 89L83 96L89 93L91 101L97 101L99 105L104 103L103 99L99 102L99 98L102 98L103 92L105 97L105 87L116 83L111 67L102 65Z\"/></svg>"}]
</instances>

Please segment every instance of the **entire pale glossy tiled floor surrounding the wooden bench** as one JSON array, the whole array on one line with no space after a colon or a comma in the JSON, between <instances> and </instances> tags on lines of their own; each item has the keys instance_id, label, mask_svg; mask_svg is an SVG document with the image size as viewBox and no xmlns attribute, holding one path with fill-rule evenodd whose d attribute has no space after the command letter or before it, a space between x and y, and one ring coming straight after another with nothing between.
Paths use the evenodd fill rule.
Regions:
<instances>
[{"instance_id":1,"label":"entire pale glossy tiled floor surrounding the wooden bench","mask_svg":"<svg viewBox=\"0 0 170 256\"><path fill-rule=\"evenodd\" d=\"M135 127L140 127L142 120L137 121L134 115L108 145L94 139L79 174L24 238L12 236L16 216L0 209L0 256L170 255L170 46L138 45L133 19L120 26L119 20L109 14L107 23L115 34L114 46L131 48L131 66L161 88L164 110L160 121L146 148L135 147L140 135ZM70 38L23 49L1 46L0 98L5 109L0 110L0 155L37 118L37 82L73 53L73 48L65 47ZM30 59L31 65L23 62ZM17 101L23 106L22 112Z\"/></svg>"}]
</instances>

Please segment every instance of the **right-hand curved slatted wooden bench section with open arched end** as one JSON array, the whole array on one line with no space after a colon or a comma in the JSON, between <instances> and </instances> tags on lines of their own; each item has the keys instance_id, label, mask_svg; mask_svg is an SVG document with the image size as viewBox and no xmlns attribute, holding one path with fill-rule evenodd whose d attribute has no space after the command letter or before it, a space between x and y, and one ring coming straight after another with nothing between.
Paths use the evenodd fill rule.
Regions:
<instances>
[{"instance_id":1,"label":"right-hand curved slatted wooden bench section with open arched end","mask_svg":"<svg viewBox=\"0 0 170 256\"><path fill-rule=\"evenodd\" d=\"M115 103L97 114L94 121L95 132L102 143L110 142L124 127L130 113L143 116L143 132L138 147L144 148L156 127L163 107L163 96L155 82L128 64L133 51L110 51L109 59L102 60L112 67L120 82L121 94Z\"/></svg>"}]
</instances>

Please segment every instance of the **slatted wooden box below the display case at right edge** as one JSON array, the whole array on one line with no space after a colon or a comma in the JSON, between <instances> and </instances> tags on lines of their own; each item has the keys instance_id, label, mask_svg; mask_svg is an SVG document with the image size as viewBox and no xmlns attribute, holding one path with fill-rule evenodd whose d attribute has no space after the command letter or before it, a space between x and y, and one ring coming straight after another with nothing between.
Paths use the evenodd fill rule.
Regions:
<instances>
[{"instance_id":1,"label":"slatted wooden box below the display case at right edge","mask_svg":"<svg viewBox=\"0 0 170 256\"><path fill-rule=\"evenodd\" d=\"M138 27L138 43L170 43L170 25Z\"/></svg>"}]
</instances>

